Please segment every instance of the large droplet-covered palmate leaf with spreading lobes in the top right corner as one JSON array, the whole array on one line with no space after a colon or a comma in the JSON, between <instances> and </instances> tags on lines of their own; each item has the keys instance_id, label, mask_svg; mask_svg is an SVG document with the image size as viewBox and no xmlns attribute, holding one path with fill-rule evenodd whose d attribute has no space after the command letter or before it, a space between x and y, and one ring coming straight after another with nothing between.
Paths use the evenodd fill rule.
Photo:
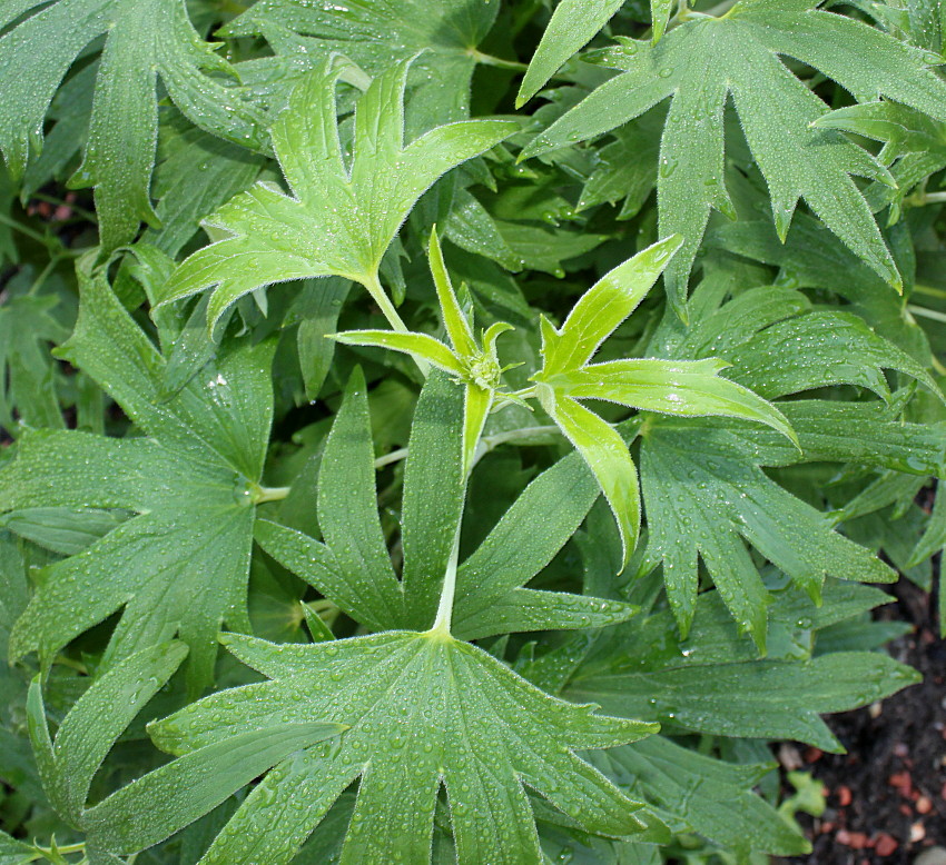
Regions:
<instances>
[{"instance_id":1,"label":"large droplet-covered palmate leaf with spreading lobes in the top right corner","mask_svg":"<svg viewBox=\"0 0 946 865\"><path fill-rule=\"evenodd\" d=\"M779 57L801 60L858 99L880 96L946 119L946 83L927 54L809 0L742 0L722 18L692 17L656 46L623 40L602 61L620 74L542 132L533 156L587 140L672 97L658 176L660 233L686 243L667 271L684 311L687 278L710 210L733 213L723 178L723 109L731 96L769 186L781 237L799 198L854 252L899 289L901 279L851 176L893 182L867 151L811 125L828 107ZM935 60L933 62L936 62ZM909 70L907 72L907 70Z\"/></svg>"}]
</instances>

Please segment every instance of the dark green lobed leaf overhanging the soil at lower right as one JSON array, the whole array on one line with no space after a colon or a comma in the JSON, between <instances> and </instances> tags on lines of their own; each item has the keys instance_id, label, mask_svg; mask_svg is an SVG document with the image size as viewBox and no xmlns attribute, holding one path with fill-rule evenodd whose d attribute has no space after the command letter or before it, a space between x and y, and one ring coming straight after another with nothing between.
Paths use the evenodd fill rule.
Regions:
<instances>
[{"instance_id":1,"label":"dark green lobed leaf overhanging the soil at lower right","mask_svg":"<svg viewBox=\"0 0 946 865\"><path fill-rule=\"evenodd\" d=\"M779 593L772 605L772 625L780 623L790 639L782 644L779 657L771 659L755 658L725 615L717 593L704 593L688 639L668 633L667 613L651 616L633 632L630 626L605 632L610 642L578 669L564 695L593 699L609 712L659 720L681 730L797 739L839 753L840 743L819 713L846 712L883 699L915 684L919 675L871 652L812 658L810 636L807 646L795 645L806 633L869 609L878 603L877 596L883 599L874 589L845 588L834 581L826 598L837 597L837 590L842 603L821 609L810 601L800 603L804 596Z\"/></svg>"}]
</instances>

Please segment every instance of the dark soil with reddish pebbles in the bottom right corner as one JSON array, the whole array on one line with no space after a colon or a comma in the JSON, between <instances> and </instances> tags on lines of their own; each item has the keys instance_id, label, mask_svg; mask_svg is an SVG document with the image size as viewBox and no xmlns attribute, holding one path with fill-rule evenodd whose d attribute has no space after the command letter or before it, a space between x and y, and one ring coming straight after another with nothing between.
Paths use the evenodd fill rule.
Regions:
<instances>
[{"instance_id":1,"label":"dark soil with reddish pebbles in the bottom right corner","mask_svg":"<svg viewBox=\"0 0 946 865\"><path fill-rule=\"evenodd\" d=\"M924 853L919 865L946 862L946 642L938 637L936 593L905 578L889 590L896 603L878 617L914 625L890 644L890 654L918 669L923 682L829 717L847 754L800 750L801 768L827 787L827 808L819 818L798 815L814 851L790 862L914 865Z\"/></svg>"}]
</instances>

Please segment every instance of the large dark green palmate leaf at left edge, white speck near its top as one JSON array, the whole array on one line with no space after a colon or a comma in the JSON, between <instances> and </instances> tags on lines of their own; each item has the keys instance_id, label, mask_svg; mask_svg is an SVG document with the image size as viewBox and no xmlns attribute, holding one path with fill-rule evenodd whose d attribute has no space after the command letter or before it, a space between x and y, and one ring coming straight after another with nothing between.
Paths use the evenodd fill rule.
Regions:
<instances>
[{"instance_id":1,"label":"large dark green palmate leaf at left edge, white speck near its top","mask_svg":"<svg viewBox=\"0 0 946 865\"><path fill-rule=\"evenodd\" d=\"M145 436L28 432L0 473L0 510L125 508L137 516L46 568L13 630L12 655L38 648L49 656L125 606L108 663L178 633L190 647L191 689L210 682L221 620L248 629L272 351L268 344L233 351L170 397L165 358L102 277L82 280L76 331L59 354Z\"/></svg>"}]
</instances>

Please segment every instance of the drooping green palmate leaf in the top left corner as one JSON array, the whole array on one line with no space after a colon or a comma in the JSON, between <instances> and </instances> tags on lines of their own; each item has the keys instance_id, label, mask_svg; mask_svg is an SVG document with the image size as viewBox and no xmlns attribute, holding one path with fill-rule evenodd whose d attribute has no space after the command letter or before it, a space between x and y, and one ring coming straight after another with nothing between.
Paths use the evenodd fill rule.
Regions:
<instances>
[{"instance_id":1,"label":"drooping green palmate leaf in the top left corner","mask_svg":"<svg viewBox=\"0 0 946 865\"><path fill-rule=\"evenodd\" d=\"M233 76L194 30L181 0L16 0L0 7L0 150L14 176L42 142L49 103L69 66L107 34L89 139L72 183L96 188L104 251L131 240L144 219L156 222L148 195L155 165L160 79L175 105L217 136L263 142L263 113L205 72Z\"/></svg>"}]
</instances>

